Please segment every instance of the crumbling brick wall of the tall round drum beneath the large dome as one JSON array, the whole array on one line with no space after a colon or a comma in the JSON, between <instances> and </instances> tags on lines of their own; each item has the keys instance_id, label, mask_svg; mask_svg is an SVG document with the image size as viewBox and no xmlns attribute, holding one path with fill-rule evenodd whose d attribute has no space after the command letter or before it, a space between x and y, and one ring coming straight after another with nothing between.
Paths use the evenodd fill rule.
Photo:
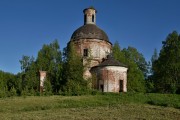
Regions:
<instances>
[{"instance_id":1,"label":"crumbling brick wall of the tall round drum beneath the large dome","mask_svg":"<svg viewBox=\"0 0 180 120\"><path fill-rule=\"evenodd\" d=\"M90 78L90 69L99 65L112 50L110 42L97 39L80 39L78 41L73 41L73 43L76 51L81 56L84 55L84 49L88 50L88 56L83 57L83 64L85 66L84 78ZM86 64L88 66L86 66Z\"/></svg>"}]
</instances>

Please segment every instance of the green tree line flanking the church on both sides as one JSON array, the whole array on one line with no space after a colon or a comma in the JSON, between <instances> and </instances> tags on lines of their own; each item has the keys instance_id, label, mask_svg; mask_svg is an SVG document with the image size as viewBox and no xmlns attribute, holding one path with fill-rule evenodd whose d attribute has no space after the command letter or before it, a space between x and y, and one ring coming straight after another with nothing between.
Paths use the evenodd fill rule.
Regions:
<instances>
[{"instance_id":1,"label":"green tree line flanking the church on both sides","mask_svg":"<svg viewBox=\"0 0 180 120\"><path fill-rule=\"evenodd\" d=\"M173 31L162 42L158 54L155 49L147 62L136 48L121 49L113 45L113 56L128 66L128 92L180 93L180 35ZM44 44L35 59L22 56L21 72L14 75L0 71L0 97L40 95L39 71L47 71L44 95L83 95L97 92L92 80L84 80L82 58L70 42L63 51L57 40Z\"/></svg>"}]
</instances>

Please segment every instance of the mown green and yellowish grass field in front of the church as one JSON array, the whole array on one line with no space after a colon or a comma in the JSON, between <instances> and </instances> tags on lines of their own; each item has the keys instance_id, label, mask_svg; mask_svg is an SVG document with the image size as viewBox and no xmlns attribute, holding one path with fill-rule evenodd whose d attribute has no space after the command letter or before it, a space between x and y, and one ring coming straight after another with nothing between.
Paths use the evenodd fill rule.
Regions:
<instances>
[{"instance_id":1,"label":"mown green and yellowish grass field in front of the church","mask_svg":"<svg viewBox=\"0 0 180 120\"><path fill-rule=\"evenodd\" d=\"M106 94L0 99L0 120L180 120L180 95Z\"/></svg>"}]
</instances>

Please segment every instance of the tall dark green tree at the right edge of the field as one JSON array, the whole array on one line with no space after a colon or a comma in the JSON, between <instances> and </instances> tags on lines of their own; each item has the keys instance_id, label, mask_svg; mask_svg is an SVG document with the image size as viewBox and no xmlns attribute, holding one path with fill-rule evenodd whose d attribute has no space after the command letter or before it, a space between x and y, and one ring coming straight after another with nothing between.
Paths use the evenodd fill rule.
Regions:
<instances>
[{"instance_id":1,"label":"tall dark green tree at the right edge of the field","mask_svg":"<svg viewBox=\"0 0 180 120\"><path fill-rule=\"evenodd\" d=\"M153 78L157 92L180 92L180 35L176 31L170 33L163 46L159 58L153 62Z\"/></svg>"}]
</instances>

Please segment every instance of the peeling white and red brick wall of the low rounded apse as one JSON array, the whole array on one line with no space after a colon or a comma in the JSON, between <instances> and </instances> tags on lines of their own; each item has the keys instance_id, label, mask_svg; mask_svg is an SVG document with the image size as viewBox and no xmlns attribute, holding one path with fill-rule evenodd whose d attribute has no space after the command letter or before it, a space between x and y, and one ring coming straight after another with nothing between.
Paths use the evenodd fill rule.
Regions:
<instances>
[{"instance_id":1,"label":"peeling white and red brick wall of the low rounded apse","mask_svg":"<svg viewBox=\"0 0 180 120\"><path fill-rule=\"evenodd\" d=\"M122 89L121 92L127 92L127 68L106 66L96 68L93 72L99 75L97 81L99 90L103 92L120 92Z\"/></svg>"}]
</instances>

